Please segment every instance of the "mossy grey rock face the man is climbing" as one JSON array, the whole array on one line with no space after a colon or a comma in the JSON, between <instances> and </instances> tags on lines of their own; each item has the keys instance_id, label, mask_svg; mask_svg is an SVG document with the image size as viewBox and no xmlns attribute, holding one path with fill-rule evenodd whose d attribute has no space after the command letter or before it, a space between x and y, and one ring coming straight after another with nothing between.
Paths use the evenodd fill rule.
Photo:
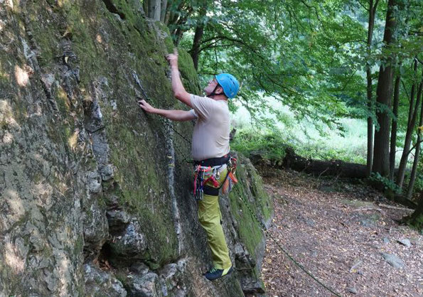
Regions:
<instances>
[{"instance_id":1,"label":"mossy grey rock face the man is climbing","mask_svg":"<svg viewBox=\"0 0 423 297\"><path fill-rule=\"evenodd\" d=\"M168 31L140 1L0 1L0 296L242 296L263 293L272 204L249 161L221 199L235 273L209 282L189 189L191 122L164 55ZM199 93L188 53L183 82ZM181 136L180 136L181 135Z\"/></svg>"}]
</instances>

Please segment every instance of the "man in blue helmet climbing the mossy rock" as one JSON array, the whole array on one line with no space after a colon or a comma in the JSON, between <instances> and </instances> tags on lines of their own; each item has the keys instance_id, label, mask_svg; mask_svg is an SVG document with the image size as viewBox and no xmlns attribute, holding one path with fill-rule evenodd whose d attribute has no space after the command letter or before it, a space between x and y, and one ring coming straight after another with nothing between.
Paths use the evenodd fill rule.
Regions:
<instances>
[{"instance_id":1,"label":"man in blue helmet climbing the mossy rock","mask_svg":"<svg viewBox=\"0 0 423 297\"><path fill-rule=\"evenodd\" d=\"M139 106L151 114L159 114L173 121L196 119L192 138L192 156L198 185L198 220L207 233L213 268L203 274L210 281L219 279L232 272L232 262L222 228L218 194L219 188L227 178L229 156L230 114L228 98L237 95L240 85L233 75L215 75L204 88L206 97L189 94L181 82L178 70L178 51L166 55L171 66L172 89L175 97L191 110L156 109L145 100ZM200 190L200 191L199 191Z\"/></svg>"}]
</instances>

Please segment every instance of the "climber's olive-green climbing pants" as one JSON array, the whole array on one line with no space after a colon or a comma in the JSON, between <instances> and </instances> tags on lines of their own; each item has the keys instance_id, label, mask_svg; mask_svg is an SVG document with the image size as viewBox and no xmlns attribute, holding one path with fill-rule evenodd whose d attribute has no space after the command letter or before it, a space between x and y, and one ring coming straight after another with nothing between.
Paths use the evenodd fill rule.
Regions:
<instances>
[{"instance_id":1,"label":"climber's olive-green climbing pants","mask_svg":"<svg viewBox=\"0 0 423 297\"><path fill-rule=\"evenodd\" d=\"M226 168L220 172L220 179L218 180L220 184L225 180L226 174ZM207 241L212 252L213 266L216 269L230 268L232 263L227 249L225 234L220 223L222 213L220 212L219 196L204 195L203 200L198 201L198 220L205 232L207 232Z\"/></svg>"}]
</instances>

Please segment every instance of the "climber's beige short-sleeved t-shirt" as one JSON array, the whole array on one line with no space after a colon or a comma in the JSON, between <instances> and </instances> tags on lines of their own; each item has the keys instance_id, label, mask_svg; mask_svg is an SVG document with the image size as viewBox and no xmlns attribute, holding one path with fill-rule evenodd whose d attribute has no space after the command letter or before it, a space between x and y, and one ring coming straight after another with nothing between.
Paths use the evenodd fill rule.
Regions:
<instances>
[{"instance_id":1,"label":"climber's beige short-sleeved t-shirt","mask_svg":"<svg viewBox=\"0 0 423 297\"><path fill-rule=\"evenodd\" d=\"M191 95L191 105L191 112L197 117L193 131L193 159L201 161L225 156L230 151L227 101Z\"/></svg>"}]
</instances>

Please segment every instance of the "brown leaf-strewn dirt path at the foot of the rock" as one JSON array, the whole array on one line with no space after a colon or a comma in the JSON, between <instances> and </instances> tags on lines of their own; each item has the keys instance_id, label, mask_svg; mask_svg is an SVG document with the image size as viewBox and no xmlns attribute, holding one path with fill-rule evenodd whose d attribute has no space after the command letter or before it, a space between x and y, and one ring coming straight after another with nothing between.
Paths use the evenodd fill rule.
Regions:
<instances>
[{"instance_id":1,"label":"brown leaf-strewn dirt path at the foot of the rock","mask_svg":"<svg viewBox=\"0 0 423 297\"><path fill-rule=\"evenodd\" d=\"M387 207L394 205L365 185L293 171L277 171L264 183L274 200L273 237L341 296L423 296L423 236L397 223L409 210ZM411 246L398 239L409 239ZM388 264L382 253L404 266ZM262 276L271 297L331 296L271 239Z\"/></svg>"}]
</instances>

